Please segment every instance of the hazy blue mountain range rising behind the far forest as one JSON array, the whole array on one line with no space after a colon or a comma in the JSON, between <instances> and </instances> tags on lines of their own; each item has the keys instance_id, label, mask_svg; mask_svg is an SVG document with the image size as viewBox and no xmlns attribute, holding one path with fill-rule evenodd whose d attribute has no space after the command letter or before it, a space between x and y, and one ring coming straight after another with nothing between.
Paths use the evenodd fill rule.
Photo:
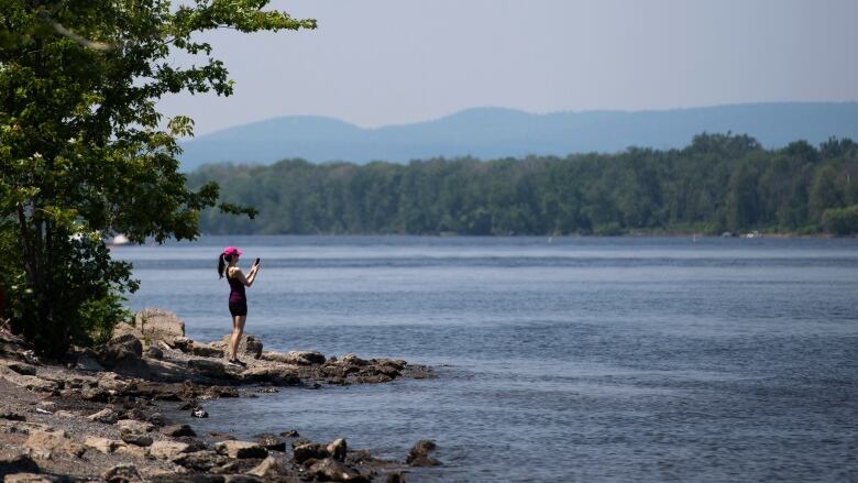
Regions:
<instances>
[{"instance_id":1,"label":"hazy blue mountain range rising behind the far forest","mask_svg":"<svg viewBox=\"0 0 858 483\"><path fill-rule=\"evenodd\" d=\"M749 134L765 147L831 136L858 140L858 102L745 103L651 111L534 114L474 108L433 121L365 129L294 116L242 124L182 143L183 171L202 164L310 162L404 163L436 156L483 160L529 154L614 153L629 146L680 149L702 132Z\"/></svg>"}]
</instances>

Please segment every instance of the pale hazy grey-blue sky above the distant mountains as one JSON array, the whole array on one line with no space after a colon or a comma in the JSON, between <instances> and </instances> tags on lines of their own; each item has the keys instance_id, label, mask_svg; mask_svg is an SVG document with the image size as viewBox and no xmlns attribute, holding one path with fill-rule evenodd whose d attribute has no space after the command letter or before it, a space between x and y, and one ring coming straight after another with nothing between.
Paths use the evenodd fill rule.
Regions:
<instances>
[{"instance_id":1,"label":"pale hazy grey-blue sky above the distant mountains","mask_svg":"<svg viewBox=\"0 0 858 483\"><path fill-rule=\"evenodd\" d=\"M858 100L858 0L275 0L317 31L209 36L235 94L170 97L197 135L530 112Z\"/></svg>"}]
</instances>

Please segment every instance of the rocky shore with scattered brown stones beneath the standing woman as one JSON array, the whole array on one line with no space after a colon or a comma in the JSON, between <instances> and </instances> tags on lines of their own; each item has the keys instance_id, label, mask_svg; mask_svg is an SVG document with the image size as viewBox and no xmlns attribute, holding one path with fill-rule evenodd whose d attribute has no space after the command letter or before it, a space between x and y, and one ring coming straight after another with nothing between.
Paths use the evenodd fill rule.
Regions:
<instances>
[{"instance_id":1,"label":"rocky shore with scattered brown stones beneath the standing woman","mask_svg":"<svg viewBox=\"0 0 858 483\"><path fill-rule=\"evenodd\" d=\"M6 482L296 482L405 481L411 466L437 465L432 441L403 461L374 458L344 439L314 442L295 428L239 441L174 424L165 405L207 417L206 402L266 397L283 386L383 384L433 377L431 367L354 354L264 351L244 336L226 364L226 340L185 337L184 322L145 309L96 349L41 361L25 341L0 331L0 476ZM278 388L279 387L279 388Z\"/></svg>"}]
</instances>

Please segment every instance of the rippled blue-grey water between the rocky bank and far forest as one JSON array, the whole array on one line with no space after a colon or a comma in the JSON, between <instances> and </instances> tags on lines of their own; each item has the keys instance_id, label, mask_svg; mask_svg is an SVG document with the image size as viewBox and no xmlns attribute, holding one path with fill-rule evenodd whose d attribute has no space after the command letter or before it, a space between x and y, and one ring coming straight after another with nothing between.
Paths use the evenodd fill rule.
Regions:
<instances>
[{"instance_id":1,"label":"rippled blue-grey water between the rocky bank and far forest","mask_svg":"<svg viewBox=\"0 0 858 483\"><path fill-rule=\"evenodd\" d=\"M435 439L409 482L858 481L858 240L211 237L117 249L132 308L220 339L227 244L263 259L266 349L440 377L210 402L201 430Z\"/></svg>"}]
</instances>

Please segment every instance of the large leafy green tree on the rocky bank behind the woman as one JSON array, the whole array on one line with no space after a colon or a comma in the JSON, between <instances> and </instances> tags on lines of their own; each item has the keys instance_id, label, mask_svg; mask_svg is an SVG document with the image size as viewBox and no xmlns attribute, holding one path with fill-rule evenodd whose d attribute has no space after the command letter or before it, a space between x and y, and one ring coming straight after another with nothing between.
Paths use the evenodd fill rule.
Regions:
<instances>
[{"instance_id":1,"label":"large leafy green tree on the rocky bank behind the woman","mask_svg":"<svg viewBox=\"0 0 858 483\"><path fill-rule=\"evenodd\" d=\"M0 25L0 286L12 327L51 354L124 317L130 265L102 240L193 239L213 183L189 190L177 172L177 117L162 129L158 98L230 95L232 81L198 33L312 29L262 10L267 0L4 1ZM173 65L176 51L202 65ZM253 215L221 204L221 210Z\"/></svg>"}]
</instances>

